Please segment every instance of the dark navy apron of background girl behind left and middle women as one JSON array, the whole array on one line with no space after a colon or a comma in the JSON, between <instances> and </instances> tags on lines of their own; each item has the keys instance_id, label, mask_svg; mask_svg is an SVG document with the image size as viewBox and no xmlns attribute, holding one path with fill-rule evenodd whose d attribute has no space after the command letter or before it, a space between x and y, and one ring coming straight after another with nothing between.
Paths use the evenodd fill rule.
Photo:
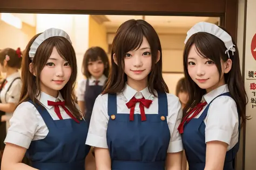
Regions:
<instances>
[{"instance_id":1,"label":"dark navy apron of background girl behind left and middle women","mask_svg":"<svg viewBox=\"0 0 256 170\"><path fill-rule=\"evenodd\" d=\"M89 86L89 80L86 80L86 88L84 93L84 102L85 102L85 121L89 127L92 109L95 103L96 98L103 91L103 86L99 86L98 84L95 86Z\"/></svg>"}]
</instances>

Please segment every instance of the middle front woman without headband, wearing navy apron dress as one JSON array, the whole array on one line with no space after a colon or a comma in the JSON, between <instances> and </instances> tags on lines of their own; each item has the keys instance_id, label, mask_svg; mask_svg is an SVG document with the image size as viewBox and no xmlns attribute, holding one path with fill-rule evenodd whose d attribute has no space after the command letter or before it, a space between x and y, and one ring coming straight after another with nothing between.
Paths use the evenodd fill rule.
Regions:
<instances>
[{"instance_id":1,"label":"middle front woman without headband, wearing navy apron dress","mask_svg":"<svg viewBox=\"0 0 256 170\"><path fill-rule=\"evenodd\" d=\"M95 146L97 169L180 170L181 104L163 80L156 31L144 20L128 20L113 39L111 56L86 140Z\"/></svg>"}]
</instances>

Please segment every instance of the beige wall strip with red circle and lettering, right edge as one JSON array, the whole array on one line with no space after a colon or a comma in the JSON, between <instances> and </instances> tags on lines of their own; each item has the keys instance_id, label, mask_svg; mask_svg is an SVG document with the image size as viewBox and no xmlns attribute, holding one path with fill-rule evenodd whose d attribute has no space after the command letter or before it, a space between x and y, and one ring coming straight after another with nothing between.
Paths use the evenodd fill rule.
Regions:
<instances>
[{"instance_id":1,"label":"beige wall strip with red circle and lettering, right edge","mask_svg":"<svg viewBox=\"0 0 256 170\"><path fill-rule=\"evenodd\" d=\"M250 121L246 122L246 136L245 136L245 169L251 170L256 169L255 164L255 156L256 156L256 119L255 119L255 111L256 108L252 108L252 105L256 105L255 103L251 103L251 98L256 98L252 92L256 90L250 89L251 83L256 83L256 80L248 80L248 71L252 70L256 72L256 60L253 58L251 52L251 42L254 34L256 34L256 1L255 0L247 0L247 12L246 12L246 39L245 39L245 88L246 93L248 95L248 104L246 107L246 115L252 116ZM253 49L256 46L253 47ZM256 54L256 52L253 52Z\"/></svg>"}]
</instances>

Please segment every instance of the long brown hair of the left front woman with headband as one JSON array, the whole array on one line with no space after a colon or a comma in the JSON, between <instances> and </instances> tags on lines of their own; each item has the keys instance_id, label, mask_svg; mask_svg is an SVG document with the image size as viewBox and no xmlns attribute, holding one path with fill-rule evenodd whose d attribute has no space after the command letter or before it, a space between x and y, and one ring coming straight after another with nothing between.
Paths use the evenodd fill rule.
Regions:
<instances>
[{"instance_id":1,"label":"long brown hair of the left front woman with headband","mask_svg":"<svg viewBox=\"0 0 256 170\"><path fill-rule=\"evenodd\" d=\"M52 53L53 47L56 47L59 55L69 62L72 70L68 83L66 83L66 85L61 90L59 90L59 92L60 94L62 94L65 100L65 105L69 108L74 116L79 118L80 112L76 108L74 100L75 95L73 94L73 89L75 88L75 81L77 77L77 62L75 50L66 38L50 37L44 40L41 45L39 45L36 54L31 61L31 59L29 58L30 46L40 34L41 33L37 34L29 41L29 44L26 46L26 49L24 51L21 74L23 85L19 104L32 100L34 103L41 105L36 98L40 95L41 92L39 77L42 69L45 67L46 62ZM29 70L30 63L32 63L32 69L33 72L36 73L36 76L34 76Z\"/></svg>"}]
</instances>

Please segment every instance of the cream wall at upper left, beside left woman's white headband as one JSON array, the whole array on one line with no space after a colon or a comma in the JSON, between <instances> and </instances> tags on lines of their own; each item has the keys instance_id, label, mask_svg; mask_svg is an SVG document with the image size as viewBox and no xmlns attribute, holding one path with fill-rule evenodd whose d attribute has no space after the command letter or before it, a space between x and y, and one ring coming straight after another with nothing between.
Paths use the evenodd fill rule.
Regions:
<instances>
[{"instance_id":1,"label":"cream wall at upper left, beside left woman's white headband","mask_svg":"<svg viewBox=\"0 0 256 170\"><path fill-rule=\"evenodd\" d=\"M1 14L0 14L1 15ZM0 49L20 47L25 49L29 40L35 35L36 29L28 24L23 23L22 29L6 24L0 20Z\"/></svg>"}]
</instances>

